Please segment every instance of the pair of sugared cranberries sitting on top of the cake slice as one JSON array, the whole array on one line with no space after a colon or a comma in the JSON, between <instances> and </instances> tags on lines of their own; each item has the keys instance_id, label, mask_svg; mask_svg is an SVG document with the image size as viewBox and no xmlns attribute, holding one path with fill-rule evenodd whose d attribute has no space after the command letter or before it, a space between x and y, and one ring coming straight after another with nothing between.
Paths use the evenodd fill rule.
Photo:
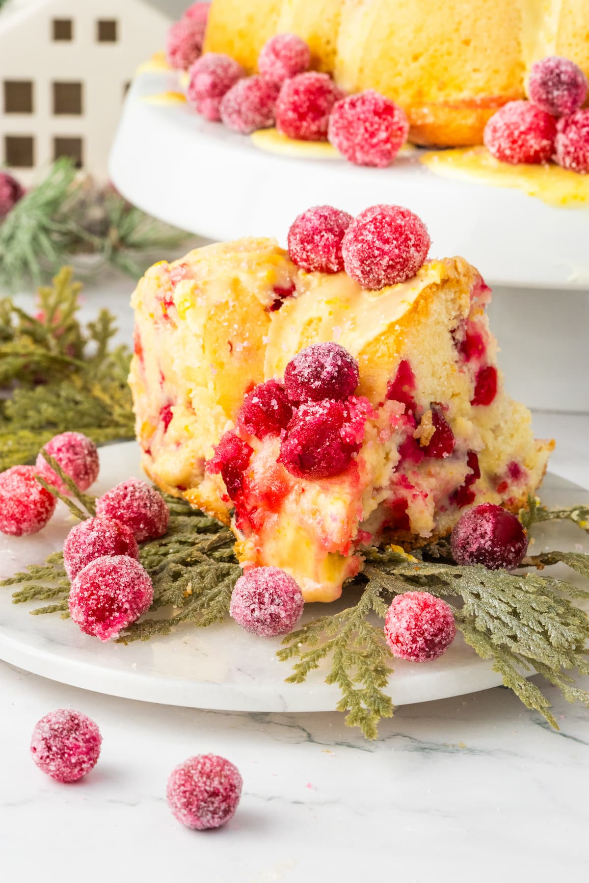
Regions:
<instances>
[{"instance_id":1,"label":"pair of sugared cranberries sitting on top of the cake slice","mask_svg":"<svg viewBox=\"0 0 589 883\"><path fill-rule=\"evenodd\" d=\"M289 230L291 260L307 271L345 269L363 288L411 279L427 258L426 225L408 208L372 206L356 218L331 206L308 208Z\"/></svg>"}]
</instances>

